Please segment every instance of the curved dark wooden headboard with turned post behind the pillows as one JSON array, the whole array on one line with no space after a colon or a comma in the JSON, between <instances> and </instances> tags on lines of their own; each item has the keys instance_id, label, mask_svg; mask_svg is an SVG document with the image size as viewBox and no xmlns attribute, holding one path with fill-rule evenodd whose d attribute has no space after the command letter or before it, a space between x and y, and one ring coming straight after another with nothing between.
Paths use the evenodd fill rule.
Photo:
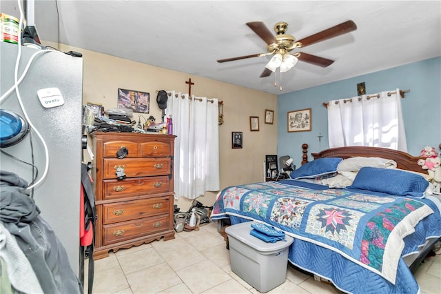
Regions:
<instances>
[{"instance_id":1,"label":"curved dark wooden headboard with turned post behind the pillows","mask_svg":"<svg viewBox=\"0 0 441 294\"><path fill-rule=\"evenodd\" d=\"M305 145L307 148L307 144L302 145L304 155L305 155L305 148L304 148ZM418 159L423 157L412 156L409 153L405 153L399 150L392 150L388 148L347 146L347 147L329 148L326 150L322 150L319 153L311 153L311 155L314 157L314 159L325 158L325 157L342 157L343 159L349 157L381 157L396 161L397 168L401 168L404 170L413 170L418 173L427 173L427 170L423 170L421 166L418 166L417 164ZM305 156L303 157L303 159L305 160Z\"/></svg>"}]
</instances>

